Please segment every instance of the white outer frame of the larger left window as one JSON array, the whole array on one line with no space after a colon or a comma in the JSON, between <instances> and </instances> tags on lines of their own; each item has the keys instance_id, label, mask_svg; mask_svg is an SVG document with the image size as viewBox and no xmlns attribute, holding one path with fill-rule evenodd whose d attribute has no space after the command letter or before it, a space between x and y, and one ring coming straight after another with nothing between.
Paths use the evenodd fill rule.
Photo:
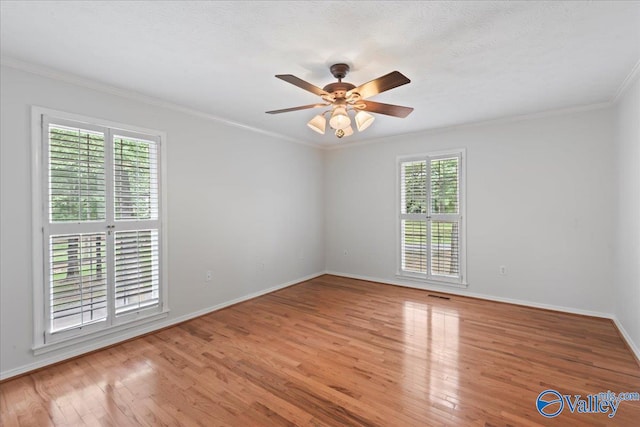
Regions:
<instances>
[{"instance_id":1,"label":"white outer frame of the larger left window","mask_svg":"<svg viewBox=\"0 0 640 427\"><path fill-rule=\"evenodd\" d=\"M70 124L86 126L87 129L107 129L106 138L115 131L118 135L140 135L148 136L158 143L158 198L160 210L159 220L159 298L160 303L157 310L141 310L130 314L113 318L112 321L103 326L89 324L80 328L49 333L49 314L47 313L46 298L48 298L48 280L45 263L49 262L48 255L45 254L48 242L45 241L45 214L48 214L47 202L47 179L45 171L48 170L44 164L45 153L43 150L44 139L48 138L48 130L45 129L47 117L53 118L54 123L63 124L65 121ZM127 133L129 132L129 133ZM32 106L31 108L31 187L32 187L32 259L33 259L33 347L35 355L49 351L58 350L74 344L93 340L98 337L124 331L139 325L164 319L169 314L169 287L168 287L168 245L167 245L167 194L166 194L166 133L154 129L142 128L108 120L96 119L75 113L53 110L50 108ZM112 156L105 153L105 156ZM110 164L112 160L109 160ZM107 167L105 165L105 167ZM109 302L111 304L111 302Z\"/></svg>"}]
</instances>

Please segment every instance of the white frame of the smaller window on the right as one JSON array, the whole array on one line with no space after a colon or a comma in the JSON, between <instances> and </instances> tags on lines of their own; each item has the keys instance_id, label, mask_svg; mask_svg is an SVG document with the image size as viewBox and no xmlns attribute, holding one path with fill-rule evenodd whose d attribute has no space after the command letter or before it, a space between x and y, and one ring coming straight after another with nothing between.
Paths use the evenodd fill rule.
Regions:
<instances>
[{"instance_id":1,"label":"white frame of the smaller window on the right","mask_svg":"<svg viewBox=\"0 0 640 427\"><path fill-rule=\"evenodd\" d=\"M404 271L402 269L402 163L412 162L412 161L426 161L427 166L429 166L429 162L431 160L437 160L441 158L450 158L452 156L457 156L459 158L458 163L458 174L459 174L459 188L458 188L458 198L459 198L459 224L460 224L460 248L459 248L459 270L460 277L445 277L445 276L434 276L429 273L429 266L427 266L427 272L425 274L415 273ZM429 171L429 167L427 167L427 171ZM427 172L428 173L428 172ZM398 156L396 158L396 277L411 281L418 281L421 283L434 284L434 285L446 285L446 286L454 286L454 287L462 287L466 288L468 286L467 282L467 225L466 225L466 150L464 148L447 150L447 151L437 151L437 152L429 152L429 153L421 153L414 155L406 155L406 156ZM427 204L427 213L424 214L425 220L437 220L438 215L431 215L428 212L430 206L430 197L431 191L427 186L427 200L429 200ZM418 215L418 214L413 214ZM430 253L431 249L429 244L427 244L427 262L430 262Z\"/></svg>"}]
</instances>

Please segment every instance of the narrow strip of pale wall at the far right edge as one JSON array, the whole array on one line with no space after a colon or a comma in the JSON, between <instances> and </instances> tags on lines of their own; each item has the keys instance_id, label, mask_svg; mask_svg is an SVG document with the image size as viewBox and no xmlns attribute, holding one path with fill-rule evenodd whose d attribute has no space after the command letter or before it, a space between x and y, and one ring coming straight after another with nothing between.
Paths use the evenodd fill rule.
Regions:
<instances>
[{"instance_id":1,"label":"narrow strip of pale wall at the far right edge","mask_svg":"<svg viewBox=\"0 0 640 427\"><path fill-rule=\"evenodd\" d=\"M640 357L640 79L616 110L617 216L615 242L618 325Z\"/></svg>"}]
</instances>

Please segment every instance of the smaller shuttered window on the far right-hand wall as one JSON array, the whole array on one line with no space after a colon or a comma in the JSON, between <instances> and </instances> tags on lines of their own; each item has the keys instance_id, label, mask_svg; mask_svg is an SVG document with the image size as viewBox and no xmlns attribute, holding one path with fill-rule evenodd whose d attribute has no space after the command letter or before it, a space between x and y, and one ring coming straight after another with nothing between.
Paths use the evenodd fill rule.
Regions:
<instances>
[{"instance_id":1,"label":"smaller shuttered window on the far right-hand wall","mask_svg":"<svg viewBox=\"0 0 640 427\"><path fill-rule=\"evenodd\" d=\"M399 160L399 275L465 284L463 152Z\"/></svg>"}]
</instances>

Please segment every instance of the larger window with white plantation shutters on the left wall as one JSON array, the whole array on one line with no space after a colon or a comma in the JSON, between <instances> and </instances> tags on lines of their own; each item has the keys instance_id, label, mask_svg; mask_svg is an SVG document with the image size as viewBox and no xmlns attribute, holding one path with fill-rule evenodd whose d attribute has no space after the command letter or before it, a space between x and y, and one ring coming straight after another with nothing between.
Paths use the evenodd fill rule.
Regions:
<instances>
[{"instance_id":1,"label":"larger window with white plantation shutters on the left wall","mask_svg":"<svg viewBox=\"0 0 640 427\"><path fill-rule=\"evenodd\" d=\"M36 348L166 315L163 135L39 109L36 120Z\"/></svg>"}]
</instances>

